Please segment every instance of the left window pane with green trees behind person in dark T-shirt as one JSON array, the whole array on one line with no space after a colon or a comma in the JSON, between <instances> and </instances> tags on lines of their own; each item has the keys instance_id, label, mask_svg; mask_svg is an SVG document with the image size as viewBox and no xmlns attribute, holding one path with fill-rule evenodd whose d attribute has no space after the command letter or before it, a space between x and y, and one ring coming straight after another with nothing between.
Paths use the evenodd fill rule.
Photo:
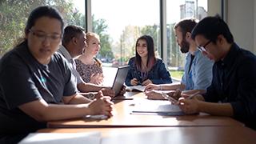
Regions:
<instances>
[{"instance_id":1,"label":"left window pane with green trees behind person in dark T-shirt","mask_svg":"<svg viewBox=\"0 0 256 144\"><path fill-rule=\"evenodd\" d=\"M84 6L84 1L79 1ZM54 6L62 14L66 24L85 26L84 11L78 10L73 1L37 0L37 1L0 1L0 58L12 49L23 37L26 20L34 8L38 6ZM84 9L84 8L83 8Z\"/></svg>"}]
</instances>

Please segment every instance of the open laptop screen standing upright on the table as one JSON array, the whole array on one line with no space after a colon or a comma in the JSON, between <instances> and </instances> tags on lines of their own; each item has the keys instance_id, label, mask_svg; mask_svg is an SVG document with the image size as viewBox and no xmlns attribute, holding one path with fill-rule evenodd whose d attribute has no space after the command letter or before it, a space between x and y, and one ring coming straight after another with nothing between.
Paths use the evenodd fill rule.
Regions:
<instances>
[{"instance_id":1,"label":"open laptop screen standing upright on the table","mask_svg":"<svg viewBox=\"0 0 256 144\"><path fill-rule=\"evenodd\" d=\"M112 86L112 90L114 90L115 97L118 96L124 82L126 81L126 76L128 74L129 67L130 67L129 65L118 67L118 71L115 74L115 78Z\"/></svg>"}]
</instances>

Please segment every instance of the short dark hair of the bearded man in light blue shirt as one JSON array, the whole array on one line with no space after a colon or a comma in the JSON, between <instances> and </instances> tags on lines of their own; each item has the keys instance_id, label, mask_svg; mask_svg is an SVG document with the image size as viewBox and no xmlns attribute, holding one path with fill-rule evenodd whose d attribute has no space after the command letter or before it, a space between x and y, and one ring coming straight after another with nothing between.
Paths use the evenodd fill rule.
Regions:
<instances>
[{"instance_id":1,"label":"short dark hair of the bearded man in light blue shirt","mask_svg":"<svg viewBox=\"0 0 256 144\"><path fill-rule=\"evenodd\" d=\"M179 26L182 30L182 36L184 38L186 36L186 33L187 32L191 33L192 30L194 29L194 26L196 26L197 24L198 24L197 19L194 19L194 18L182 19L180 22L175 24L174 30L176 30Z\"/></svg>"}]
</instances>

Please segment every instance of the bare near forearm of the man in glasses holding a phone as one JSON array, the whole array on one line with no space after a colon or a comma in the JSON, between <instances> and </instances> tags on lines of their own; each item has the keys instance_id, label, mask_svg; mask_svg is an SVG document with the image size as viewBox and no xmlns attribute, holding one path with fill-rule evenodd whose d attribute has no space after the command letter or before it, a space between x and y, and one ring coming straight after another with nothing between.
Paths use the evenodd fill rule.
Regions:
<instances>
[{"instance_id":1,"label":"bare near forearm of the man in glasses holding a phone","mask_svg":"<svg viewBox=\"0 0 256 144\"><path fill-rule=\"evenodd\" d=\"M220 115L220 116L233 116L234 111L230 103L213 103L213 102L198 102L198 109L200 112Z\"/></svg>"}]
</instances>

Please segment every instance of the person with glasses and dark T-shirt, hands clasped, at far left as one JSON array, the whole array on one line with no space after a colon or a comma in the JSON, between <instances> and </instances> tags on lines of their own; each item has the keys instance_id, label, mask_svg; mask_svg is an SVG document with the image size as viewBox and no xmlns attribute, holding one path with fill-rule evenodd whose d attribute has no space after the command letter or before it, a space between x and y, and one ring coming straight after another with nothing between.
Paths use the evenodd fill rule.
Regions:
<instances>
[{"instance_id":1,"label":"person with glasses and dark T-shirt, hands clasped, at far left","mask_svg":"<svg viewBox=\"0 0 256 144\"><path fill-rule=\"evenodd\" d=\"M62 16L50 6L33 10L23 42L0 61L0 143L17 143L46 122L85 115L111 116L109 97L89 100L77 93L69 64L58 50Z\"/></svg>"}]
</instances>

